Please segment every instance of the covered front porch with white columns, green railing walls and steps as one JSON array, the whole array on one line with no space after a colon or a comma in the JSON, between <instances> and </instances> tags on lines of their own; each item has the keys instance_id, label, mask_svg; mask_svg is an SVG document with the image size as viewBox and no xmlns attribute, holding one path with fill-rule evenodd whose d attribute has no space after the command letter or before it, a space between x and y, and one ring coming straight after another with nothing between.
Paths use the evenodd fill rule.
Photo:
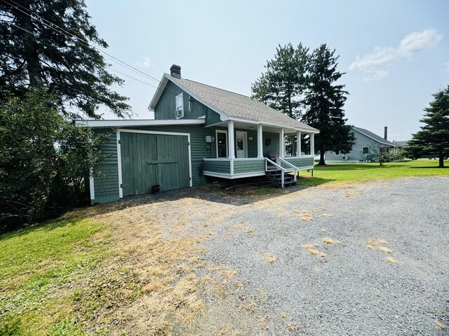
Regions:
<instances>
[{"instance_id":1,"label":"covered front porch with white columns, green railing walls and steps","mask_svg":"<svg viewBox=\"0 0 449 336\"><path fill-rule=\"evenodd\" d=\"M217 128L215 137L210 139L215 151L212 151L212 158L203 158L205 176L232 180L267 176L283 188L294 185L301 170L314 169L314 132L234 120L225 123L227 130ZM257 133L254 132L256 127ZM248 133L255 137L248 137ZM255 156L256 152L255 146L248 151L248 141L257 142L255 158L248 158L248 153ZM290 153L286 154L288 151Z\"/></svg>"}]
</instances>

